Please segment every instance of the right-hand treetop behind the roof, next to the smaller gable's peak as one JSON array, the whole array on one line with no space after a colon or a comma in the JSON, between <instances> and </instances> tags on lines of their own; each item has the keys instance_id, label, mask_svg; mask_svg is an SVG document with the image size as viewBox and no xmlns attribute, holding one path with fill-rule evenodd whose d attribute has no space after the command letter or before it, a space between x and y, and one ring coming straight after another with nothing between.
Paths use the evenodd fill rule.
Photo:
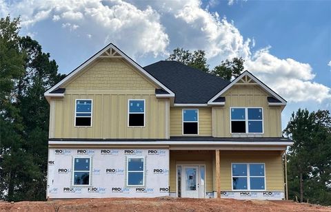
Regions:
<instances>
[{"instance_id":1,"label":"right-hand treetop behind the roof, next to the smaller gable's peak","mask_svg":"<svg viewBox=\"0 0 331 212\"><path fill-rule=\"evenodd\" d=\"M230 81L232 77L236 78L243 72L243 62L245 61L242 58L237 57L232 59L232 61L226 59L221 62L221 65L215 66L211 74Z\"/></svg>"}]
</instances>

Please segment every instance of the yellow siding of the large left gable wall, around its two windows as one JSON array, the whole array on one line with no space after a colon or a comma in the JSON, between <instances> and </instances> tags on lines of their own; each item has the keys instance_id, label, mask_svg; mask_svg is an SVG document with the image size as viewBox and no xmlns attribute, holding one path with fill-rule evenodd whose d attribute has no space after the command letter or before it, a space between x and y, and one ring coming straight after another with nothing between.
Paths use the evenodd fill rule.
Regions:
<instances>
[{"instance_id":1,"label":"yellow siding of the large left gable wall, around its two windows","mask_svg":"<svg viewBox=\"0 0 331 212\"><path fill-rule=\"evenodd\" d=\"M64 85L51 99L50 138L168 138L169 100L121 59L102 59ZM92 99L92 127L74 127L76 99ZM146 100L145 127L128 127L128 100Z\"/></svg>"}]
</instances>

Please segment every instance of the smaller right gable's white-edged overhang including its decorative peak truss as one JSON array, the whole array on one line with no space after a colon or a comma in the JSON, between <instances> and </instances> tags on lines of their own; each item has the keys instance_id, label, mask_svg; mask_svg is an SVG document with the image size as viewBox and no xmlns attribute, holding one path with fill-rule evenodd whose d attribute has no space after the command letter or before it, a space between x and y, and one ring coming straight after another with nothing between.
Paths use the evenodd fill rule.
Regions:
<instances>
[{"instance_id":1,"label":"smaller right gable's white-edged overhang including its decorative peak truss","mask_svg":"<svg viewBox=\"0 0 331 212\"><path fill-rule=\"evenodd\" d=\"M268 103L269 105L286 105L286 100L283 99L279 94L274 92L270 87L262 83L257 77L255 77L253 74L251 74L248 71L243 72L240 74L237 78L234 79L230 84L228 84L226 87L221 89L220 92L218 92L216 95L214 95L210 100L208 100L208 105L224 105L223 103L219 103L217 101L218 98L221 97L222 94L228 91L233 85L259 85L267 92L270 94L271 98L268 98Z\"/></svg>"}]
</instances>

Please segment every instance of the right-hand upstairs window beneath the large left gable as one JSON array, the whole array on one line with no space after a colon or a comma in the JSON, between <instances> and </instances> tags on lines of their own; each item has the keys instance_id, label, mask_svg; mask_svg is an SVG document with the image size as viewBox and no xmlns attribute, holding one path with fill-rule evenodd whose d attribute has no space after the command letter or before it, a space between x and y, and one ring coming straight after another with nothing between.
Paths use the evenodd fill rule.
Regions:
<instances>
[{"instance_id":1,"label":"right-hand upstairs window beneath the large left gable","mask_svg":"<svg viewBox=\"0 0 331 212\"><path fill-rule=\"evenodd\" d=\"M145 100L129 100L129 127L145 126Z\"/></svg>"}]
</instances>

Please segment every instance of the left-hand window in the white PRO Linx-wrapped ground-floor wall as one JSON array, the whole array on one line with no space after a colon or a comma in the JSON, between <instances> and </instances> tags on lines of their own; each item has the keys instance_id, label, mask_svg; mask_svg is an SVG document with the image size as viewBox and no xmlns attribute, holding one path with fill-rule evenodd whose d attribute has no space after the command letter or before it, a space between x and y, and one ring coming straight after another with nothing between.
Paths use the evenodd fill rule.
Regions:
<instances>
[{"instance_id":1,"label":"left-hand window in the white PRO Linx-wrapped ground-floor wall","mask_svg":"<svg viewBox=\"0 0 331 212\"><path fill-rule=\"evenodd\" d=\"M74 185L90 184L90 158L74 158Z\"/></svg>"}]
</instances>

